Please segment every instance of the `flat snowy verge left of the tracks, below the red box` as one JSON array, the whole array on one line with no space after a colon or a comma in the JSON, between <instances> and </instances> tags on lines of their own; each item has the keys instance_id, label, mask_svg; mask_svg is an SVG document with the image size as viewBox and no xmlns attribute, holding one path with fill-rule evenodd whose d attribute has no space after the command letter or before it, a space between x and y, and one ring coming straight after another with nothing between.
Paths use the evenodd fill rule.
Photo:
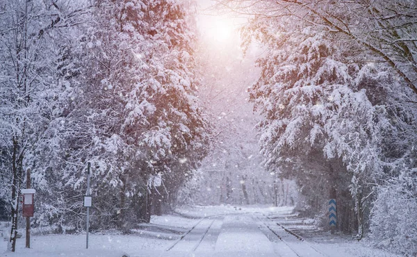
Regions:
<instances>
[{"instance_id":1,"label":"flat snowy verge left of the tracks, below the red box","mask_svg":"<svg viewBox=\"0 0 417 257\"><path fill-rule=\"evenodd\" d=\"M6 252L7 242L1 240L0 256L154 256L169 247L172 240L179 238L193 223L195 219L178 215L153 216L151 224L139 224L138 229L133 229L129 235L115 231L90 233L89 249L85 249L85 234L35 235L31 237L31 249L26 249L25 239L19 238L15 253Z\"/></svg>"}]
</instances>

